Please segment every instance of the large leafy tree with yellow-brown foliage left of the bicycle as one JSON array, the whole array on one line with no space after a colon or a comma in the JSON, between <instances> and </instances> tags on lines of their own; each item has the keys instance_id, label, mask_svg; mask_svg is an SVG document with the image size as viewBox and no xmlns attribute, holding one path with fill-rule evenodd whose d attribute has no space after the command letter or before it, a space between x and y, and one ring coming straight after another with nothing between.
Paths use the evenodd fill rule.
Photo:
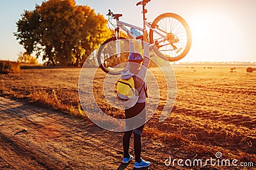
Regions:
<instances>
[{"instance_id":1,"label":"large leafy tree with yellow-brown foliage left of the bicycle","mask_svg":"<svg viewBox=\"0 0 256 170\"><path fill-rule=\"evenodd\" d=\"M26 54L42 56L47 65L81 66L111 36L107 20L74 0L49 0L24 11L13 34Z\"/></svg>"}]
</instances>

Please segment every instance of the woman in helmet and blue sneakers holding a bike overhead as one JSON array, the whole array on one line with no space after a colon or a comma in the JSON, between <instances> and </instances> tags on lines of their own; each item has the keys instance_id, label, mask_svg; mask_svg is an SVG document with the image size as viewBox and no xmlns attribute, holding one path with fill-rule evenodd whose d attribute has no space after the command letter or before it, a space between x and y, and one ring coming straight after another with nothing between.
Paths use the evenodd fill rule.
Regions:
<instances>
[{"instance_id":1,"label":"woman in helmet and blue sneakers holding a bike overhead","mask_svg":"<svg viewBox=\"0 0 256 170\"><path fill-rule=\"evenodd\" d=\"M146 120L146 97L147 97L147 85L145 83L145 75L147 73L147 67L149 64L149 48L145 43L144 56L140 53L134 52L134 43L130 39L130 55L128 57L128 64L124 71L122 71L122 79L128 80L134 79L134 87L138 93L138 101L131 108L125 109L125 119L133 118L133 120L125 121L125 131L123 138L124 159L123 163L129 163L133 157L129 154L129 142L134 134L134 153L135 153L135 168L148 167L150 162L141 159L141 134ZM135 120L135 121L134 121ZM140 127L136 127L140 125ZM135 128L136 127L136 128ZM132 129L132 130L131 130Z\"/></svg>"}]
</instances>

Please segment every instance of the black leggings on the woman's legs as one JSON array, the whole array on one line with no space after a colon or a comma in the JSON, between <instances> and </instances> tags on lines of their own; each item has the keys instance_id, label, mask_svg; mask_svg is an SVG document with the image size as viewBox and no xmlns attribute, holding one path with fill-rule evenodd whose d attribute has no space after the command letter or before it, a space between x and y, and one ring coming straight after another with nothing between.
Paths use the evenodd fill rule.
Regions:
<instances>
[{"instance_id":1,"label":"black leggings on the woman's legs","mask_svg":"<svg viewBox=\"0 0 256 170\"><path fill-rule=\"evenodd\" d=\"M130 138L131 138L131 135L133 132L133 134L134 134L134 153L135 153L135 161L136 162L140 162L141 134L142 134L143 127L145 124L145 120L146 120L145 105L146 105L145 103L136 103L132 108L125 110L125 118L136 117L139 113L141 113L138 116L138 118L136 118L136 120L138 120L140 122L126 121L125 126L129 126L129 127L133 126L134 127L134 125L136 125L137 123L140 123L142 125L134 130L125 131L124 138L123 138L124 157L129 158L129 143L130 143Z\"/></svg>"}]
</instances>

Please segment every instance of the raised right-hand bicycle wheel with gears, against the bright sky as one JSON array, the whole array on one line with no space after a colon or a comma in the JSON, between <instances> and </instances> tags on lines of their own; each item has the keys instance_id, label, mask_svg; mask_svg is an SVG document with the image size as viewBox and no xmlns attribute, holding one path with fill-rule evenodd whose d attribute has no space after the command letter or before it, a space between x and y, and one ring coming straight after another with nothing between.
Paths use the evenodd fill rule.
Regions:
<instances>
[{"instance_id":1,"label":"raised right-hand bicycle wheel with gears, against the bright sky","mask_svg":"<svg viewBox=\"0 0 256 170\"><path fill-rule=\"evenodd\" d=\"M175 13L163 13L153 22L150 29L150 43L155 43L153 50L168 61L177 61L187 55L191 46L189 25Z\"/></svg>"}]
</instances>

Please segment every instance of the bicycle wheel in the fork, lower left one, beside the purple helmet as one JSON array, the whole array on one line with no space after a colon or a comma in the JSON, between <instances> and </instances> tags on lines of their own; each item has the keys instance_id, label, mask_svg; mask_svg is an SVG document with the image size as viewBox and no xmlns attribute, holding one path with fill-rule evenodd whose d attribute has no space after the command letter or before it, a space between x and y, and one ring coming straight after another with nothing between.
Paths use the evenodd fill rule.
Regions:
<instances>
[{"instance_id":1,"label":"bicycle wheel in the fork, lower left one, beside the purple helmet","mask_svg":"<svg viewBox=\"0 0 256 170\"><path fill-rule=\"evenodd\" d=\"M116 50L116 45L120 46L120 56ZM124 37L116 39L109 38L99 48L97 60L100 68L108 74L118 75L125 69L129 56L129 41Z\"/></svg>"}]
</instances>

